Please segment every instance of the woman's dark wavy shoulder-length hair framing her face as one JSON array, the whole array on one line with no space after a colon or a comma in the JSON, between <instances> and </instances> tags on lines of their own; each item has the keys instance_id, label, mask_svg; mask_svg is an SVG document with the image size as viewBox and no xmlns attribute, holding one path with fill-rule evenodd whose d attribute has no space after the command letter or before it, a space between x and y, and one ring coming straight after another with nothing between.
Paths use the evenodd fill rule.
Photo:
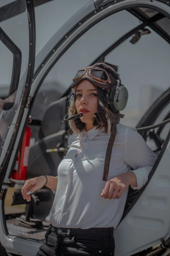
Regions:
<instances>
[{"instance_id":1,"label":"woman's dark wavy shoulder-length hair framing her face","mask_svg":"<svg viewBox=\"0 0 170 256\"><path fill-rule=\"evenodd\" d=\"M94 113L93 116L93 126L96 127L96 129L102 130L104 128L105 133L107 133L108 123L107 120L109 118L109 115L111 114L110 109L108 106L108 100L107 100L107 91L103 90L102 88L99 88L98 86L95 86L95 89L97 90L97 113ZM76 90L75 90L76 91ZM78 114L76 110L76 94L74 93L72 102L68 109L68 116L71 117L73 115ZM76 130L79 130L80 132L85 128L85 123L81 121L80 118L70 120L69 124L74 126ZM70 125L70 126L71 126Z\"/></svg>"}]
</instances>

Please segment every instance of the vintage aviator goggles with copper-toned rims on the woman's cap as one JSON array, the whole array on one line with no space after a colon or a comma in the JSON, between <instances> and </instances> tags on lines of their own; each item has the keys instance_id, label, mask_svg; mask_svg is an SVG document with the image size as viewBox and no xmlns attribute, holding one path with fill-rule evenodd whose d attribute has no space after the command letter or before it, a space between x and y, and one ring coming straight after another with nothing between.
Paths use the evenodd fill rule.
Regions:
<instances>
[{"instance_id":1,"label":"vintage aviator goggles with copper-toned rims on the woman's cap","mask_svg":"<svg viewBox=\"0 0 170 256\"><path fill-rule=\"evenodd\" d=\"M85 79L87 79L92 84L106 90L117 84L116 78L109 74L105 69L93 65L78 70L76 76L73 78L73 84L71 88L73 89L76 85L78 85L78 83Z\"/></svg>"}]
</instances>

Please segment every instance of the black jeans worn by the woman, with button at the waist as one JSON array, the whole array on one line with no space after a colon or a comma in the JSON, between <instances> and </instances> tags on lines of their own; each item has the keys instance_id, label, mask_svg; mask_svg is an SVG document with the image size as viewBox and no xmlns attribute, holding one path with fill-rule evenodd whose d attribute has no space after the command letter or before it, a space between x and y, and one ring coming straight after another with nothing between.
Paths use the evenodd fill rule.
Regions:
<instances>
[{"instance_id":1,"label":"black jeans worn by the woman, with button at the waist","mask_svg":"<svg viewBox=\"0 0 170 256\"><path fill-rule=\"evenodd\" d=\"M67 229L49 226L36 256L114 256L113 228Z\"/></svg>"}]
</instances>

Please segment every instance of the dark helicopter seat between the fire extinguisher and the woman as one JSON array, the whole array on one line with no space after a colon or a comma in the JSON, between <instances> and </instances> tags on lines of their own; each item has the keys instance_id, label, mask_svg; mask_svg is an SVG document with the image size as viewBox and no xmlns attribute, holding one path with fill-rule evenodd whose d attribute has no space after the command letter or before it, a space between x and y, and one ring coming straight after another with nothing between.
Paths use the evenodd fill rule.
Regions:
<instances>
[{"instance_id":1,"label":"dark helicopter seat between the fire extinguisher and the woman","mask_svg":"<svg viewBox=\"0 0 170 256\"><path fill-rule=\"evenodd\" d=\"M30 148L27 178L42 174L57 175L58 165L64 156L57 149L67 147L64 143L67 140L65 138L66 126L63 121L66 105L67 97L63 97L51 103L46 110L39 131L39 139Z\"/></svg>"}]
</instances>

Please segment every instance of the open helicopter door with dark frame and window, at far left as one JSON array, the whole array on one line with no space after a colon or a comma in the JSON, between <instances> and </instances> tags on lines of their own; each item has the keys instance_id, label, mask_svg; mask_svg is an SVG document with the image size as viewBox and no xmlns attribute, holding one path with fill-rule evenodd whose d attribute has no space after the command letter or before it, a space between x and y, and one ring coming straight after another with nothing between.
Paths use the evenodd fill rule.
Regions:
<instances>
[{"instance_id":1,"label":"open helicopter door with dark frame and window, at far left","mask_svg":"<svg viewBox=\"0 0 170 256\"><path fill-rule=\"evenodd\" d=\"M13 150L15 141L18 139L19 143L22 137L20 127L23 129L25 123L21 123L21 119L23 115L26 119L28 114L26 103L34 71L35 19L32 3L31 0L0 1L0 247L10 241L4 235L7 230L4 227L3 200L6 189L11 186L8 183L11 175L8 174L6 181L4 178L8 165L16 157L17 151Z\"/></svg>"}]
</instances>

